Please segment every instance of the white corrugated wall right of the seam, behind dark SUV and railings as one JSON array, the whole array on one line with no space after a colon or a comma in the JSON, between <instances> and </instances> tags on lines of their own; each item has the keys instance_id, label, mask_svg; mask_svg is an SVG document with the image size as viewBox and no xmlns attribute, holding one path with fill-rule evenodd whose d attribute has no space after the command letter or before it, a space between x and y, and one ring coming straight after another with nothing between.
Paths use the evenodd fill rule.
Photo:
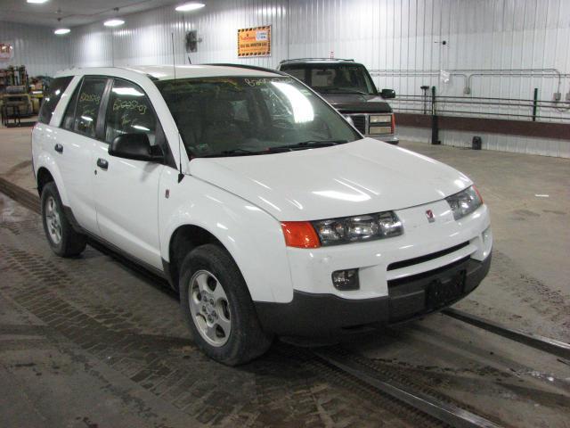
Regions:
<instances>
[{"instance_id":1,"label":"white corrugated wall right of the seam, behind dark SUV and railings","mask_svg":"<svg viewBox=\"0 0 570 428\"><path fill-rule=\"evenodd\" d=\"M436 86L444 96L464 96L466 86L470 97L532 100L535 87L545 101L552 101L556 92L563 100L570 95L568 0L290 0L289 12L291 57L326 57L333 51L338 58L354 58L372 70L377 86L394 88L399 95L421 95L424 85ZM562 76L544 69L557 69ZM443 83L439 70L458 71ZM490 76L476 70L533 71ZM397 99L392 105L402 111L420 107ZM501 119L521 119L517 115L532 112L527 105L438 107L466 115L501 113ZM549 121L570 118L567 109L544 108L538 114L549 116ZM400 127L398 132L426 142L431 136L429 129ZM479 135L487 149L570 157L570 136L546 140ZM460 146L470 145L472 136L440 133L444 144Z\"/></svg>"}]
</instances>

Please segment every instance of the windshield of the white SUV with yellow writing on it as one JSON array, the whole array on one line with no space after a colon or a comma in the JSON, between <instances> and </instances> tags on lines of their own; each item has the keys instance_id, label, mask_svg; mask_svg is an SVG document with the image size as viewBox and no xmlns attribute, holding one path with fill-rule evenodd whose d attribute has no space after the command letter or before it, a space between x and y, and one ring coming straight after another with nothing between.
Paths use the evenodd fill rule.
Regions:
<instances>
[{"instance_id":1,"label":"windshield of the white SUV with yellow writing on it","mask_svg":"<svg viewBox=\"0 0 570 428\"><path fill-rule=\"evenodd\" d=\"M190 158L286 152L362 138L293 78L155 82Z\"/></svg>"}]
</instances>

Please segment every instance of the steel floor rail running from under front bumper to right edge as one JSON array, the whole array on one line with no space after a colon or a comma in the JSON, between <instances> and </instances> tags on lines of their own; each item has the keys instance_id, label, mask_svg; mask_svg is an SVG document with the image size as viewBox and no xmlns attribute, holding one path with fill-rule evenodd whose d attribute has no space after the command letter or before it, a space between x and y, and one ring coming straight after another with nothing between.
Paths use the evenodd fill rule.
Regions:
<instances>
[{"instance_id":1,"label":"steel floor rail running from under front bumper to right edge","mask_svg":"<svg viewBox=\"0 0 570 428\"><path fill-rule=\"evenodd\" d=\"M549 337L545 337L540 334L526 333L522 330L517 330L516 328L509 328L489 319L468 314L467 312L463 312L459 309L447 308L443 309L441 312L448 317L453 317L463 321L464 323L475 325L476 327L498 334L510 339L511 341L523 343L527 346L548 352L560 358L570 359L570 343L560 342L556 339L550 339Z\"/></svg>"}]
</instances>

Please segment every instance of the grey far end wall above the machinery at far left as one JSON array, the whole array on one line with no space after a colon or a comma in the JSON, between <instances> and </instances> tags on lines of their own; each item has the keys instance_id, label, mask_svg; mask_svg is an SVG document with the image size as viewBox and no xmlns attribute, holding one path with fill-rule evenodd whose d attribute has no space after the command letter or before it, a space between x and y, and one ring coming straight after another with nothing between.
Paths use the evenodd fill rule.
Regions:
<instances>
[{"instance_id":1,"label":"grey far end wall above the machinery at far left","mask_svg":"<svg viewBox=\"0 0 570 428\"><path fill-rule=\"evenodd\" d=\"M0 68L26 65L30 76L53 76L69 63L69 39L54 37L53 29L0 21L0 42L11 42L14 57Z\"/></svg>"}]
</instances>

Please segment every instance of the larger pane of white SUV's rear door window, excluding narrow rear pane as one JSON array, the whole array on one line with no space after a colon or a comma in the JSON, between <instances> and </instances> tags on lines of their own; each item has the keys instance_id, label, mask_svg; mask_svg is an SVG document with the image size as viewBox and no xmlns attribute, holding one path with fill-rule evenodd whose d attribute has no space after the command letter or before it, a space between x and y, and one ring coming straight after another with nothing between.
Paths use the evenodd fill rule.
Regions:
<instances>
[{"instance_id":1,"label":"larger pane of white SUV's rear door window, excluding narrow rear pane","mask_svg":"<svg viewBox=\"0 0 570 428\"><path fill-rule=\"evenodd\" d=\"M85 78L78 92L73 130L85 136L95 136L99 105L107 78Z\"/></svg>"}]
</instances>

